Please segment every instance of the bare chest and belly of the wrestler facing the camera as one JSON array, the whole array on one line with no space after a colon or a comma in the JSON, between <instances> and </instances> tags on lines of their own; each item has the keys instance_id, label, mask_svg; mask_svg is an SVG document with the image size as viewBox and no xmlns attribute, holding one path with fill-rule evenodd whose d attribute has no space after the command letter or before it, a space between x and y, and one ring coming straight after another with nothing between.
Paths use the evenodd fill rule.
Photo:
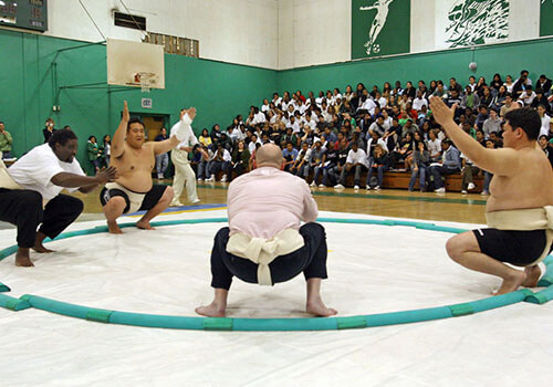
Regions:
<instances>
[{"instance_id":1,"label":"bare chest and belly of the wrestler facing the camera","mask_svg":"<svg viewBox=\"0 0 553 387\"><path fill-rule=\"evenodd\" d=\"M152 189L152 170L156 164L155 143L145 143L140 148L124 145L123 155L113 157L109 165L119 171L116 182L135 192L148 192Z\"/></svg>"}]
</instances>

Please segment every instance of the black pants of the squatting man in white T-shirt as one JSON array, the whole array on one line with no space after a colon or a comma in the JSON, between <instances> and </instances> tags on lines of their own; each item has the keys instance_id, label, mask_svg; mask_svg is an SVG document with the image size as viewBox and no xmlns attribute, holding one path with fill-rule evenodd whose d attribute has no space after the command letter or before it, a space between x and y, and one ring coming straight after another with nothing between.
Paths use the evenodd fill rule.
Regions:
<instances>
[{"instance_id":1,"label":"black pants of the squatting man in white T-shirt","mask_svg":"<svg viewBox=\"0 0 553 387\"><path fill-rule=\"evenodd\" d=\"M18 227L18 245L32 248L40 232L54 239L83 211L83 202L67 195L58 195L42 209L42 196L28 189L0 188L0 220Z\"/></svg>"}]
</instances>

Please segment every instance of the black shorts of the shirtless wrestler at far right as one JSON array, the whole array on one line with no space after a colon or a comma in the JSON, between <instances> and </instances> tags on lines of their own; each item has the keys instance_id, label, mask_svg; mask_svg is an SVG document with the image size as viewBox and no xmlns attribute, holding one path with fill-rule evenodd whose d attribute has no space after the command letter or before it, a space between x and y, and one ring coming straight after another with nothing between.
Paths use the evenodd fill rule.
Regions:
<instances>
[{"instance_id":1,"label":"black shorts of the shirtless wrestler at far right","mask_svg":"<svg viewBox=\"0 0 553 387\"><path fill-rule=\"evenodd\" d=\"M508 231L498 229L472 230L480 251L517 266L534 263L543 253L546 243L545 230ZM551 252L550 248L550 252Z\"/></svg>"}]
</instances>

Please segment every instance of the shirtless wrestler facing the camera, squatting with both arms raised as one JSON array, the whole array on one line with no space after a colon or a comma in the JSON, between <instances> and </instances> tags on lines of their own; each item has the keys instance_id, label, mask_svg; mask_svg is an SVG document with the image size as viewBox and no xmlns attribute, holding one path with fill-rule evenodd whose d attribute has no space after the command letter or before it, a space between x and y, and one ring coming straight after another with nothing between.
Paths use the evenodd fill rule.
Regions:
<instances>
[{"instance_id":1,"label":"shirtless wrestler facing the camera, squatting with both arms raised","mask_svg":"<svg viewBox=\"0 0 553 387\"><path fill-rule=\"evenodd\" d=\"M136 222L136 227L144 230L154 229L149 221L169 207L173 200L170 187L154 185L152 181L155 156L176 147L187 135L186 125L190 125L195 116L194 107L182 111L182 125L169 139L145 144L144 124L138 118L131 119L125 101L123 116L111 147L111 164L117 167L119 177L114 182L106 184L100 192L100 201L104 206L111 233L123 233L117 226L118 217L139 210L147 212Z\"/></svg>"}]
</instances>

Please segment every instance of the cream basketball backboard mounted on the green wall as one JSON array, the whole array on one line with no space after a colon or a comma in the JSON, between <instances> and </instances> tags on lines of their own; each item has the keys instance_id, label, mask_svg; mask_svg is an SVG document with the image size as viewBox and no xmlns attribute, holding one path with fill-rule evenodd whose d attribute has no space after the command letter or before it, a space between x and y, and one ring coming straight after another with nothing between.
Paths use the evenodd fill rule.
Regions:
<instances>
[{"instance_id":1,"label":"cream basketball backboard mounted on the green wall","mask_svg":"<svg viewBox=\"0 0 553 387\"><path fill-rule=\"evenodd\" d=\"M164 46L107 39L107 84L165 88Z\"/></svg>"}]
</instances>

